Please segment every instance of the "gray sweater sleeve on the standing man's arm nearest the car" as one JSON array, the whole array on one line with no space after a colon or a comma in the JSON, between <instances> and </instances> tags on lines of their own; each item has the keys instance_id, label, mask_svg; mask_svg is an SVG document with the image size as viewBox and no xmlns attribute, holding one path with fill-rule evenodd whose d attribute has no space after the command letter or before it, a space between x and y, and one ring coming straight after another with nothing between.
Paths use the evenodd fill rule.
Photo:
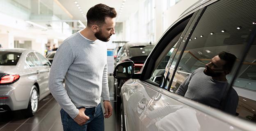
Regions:
<instances>
[{"instance_id":1,"label":"gray sweater sleeve on the standing man's arm nearest the car","mask_svg":"<svg viewBox=\"0 0 256 131\"><path fill-rule=\"evenodd\" d=\"M105 67L103 70L101 97L103 98L103 100L110 101L109 90L108 90L108 80L107 80L107 63L105 64Z\"/></svg>"}]
</instances>

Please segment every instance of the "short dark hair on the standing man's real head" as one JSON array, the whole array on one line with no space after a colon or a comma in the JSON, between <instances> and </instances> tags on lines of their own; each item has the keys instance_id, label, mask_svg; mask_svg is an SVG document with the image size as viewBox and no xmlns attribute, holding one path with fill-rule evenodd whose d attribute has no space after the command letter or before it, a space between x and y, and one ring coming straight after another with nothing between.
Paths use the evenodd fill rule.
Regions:
<instances>
[{"instance_id":1,"label":"short dark hair on the standing man's real head","mask_svg":"<svg viewBox=\"0 0 256 131\"><path fill-rule=\"evenodd\" d=\"M115 18L116 16L117 12L114 8L104 4L95 5L94 7L91 7L86 14L87 26L92 26L94 24L101 26L105 23L106 17Z\"/></svg>"}]
</instances>

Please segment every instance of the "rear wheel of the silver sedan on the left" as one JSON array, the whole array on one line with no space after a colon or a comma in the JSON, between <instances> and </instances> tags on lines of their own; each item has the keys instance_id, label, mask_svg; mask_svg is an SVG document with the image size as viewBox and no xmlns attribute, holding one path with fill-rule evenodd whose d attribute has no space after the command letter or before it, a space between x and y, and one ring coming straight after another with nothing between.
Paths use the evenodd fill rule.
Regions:
<instances>
[{"instance_id":1,"label":"rear wheel of the silver sedan on the left","mask_svg":"<svg viewBox=\"0 0 256 131\"><path fill-rule=\"evenodd\" d=\"M32 86L32 93L28 102L27 109L25 110L27 117L32 117L37 112L38 107L38 91L37 86Z\"/></svg>"}]
</instances>

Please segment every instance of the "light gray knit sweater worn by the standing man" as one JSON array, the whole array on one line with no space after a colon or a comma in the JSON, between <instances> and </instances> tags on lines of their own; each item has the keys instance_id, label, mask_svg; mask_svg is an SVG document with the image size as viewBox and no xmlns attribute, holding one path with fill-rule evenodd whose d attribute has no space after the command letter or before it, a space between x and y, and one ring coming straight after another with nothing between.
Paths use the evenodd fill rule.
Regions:
<instances>
[{"instance_id":1,"label":"light gray knit sweater worn by the standing man","mask_svg":"<svg viewBox=\"0 0 256 131\"><path fill-rule=\"evenodd\" d=\"M65 79L65 87L62 84ZM76 107L96 107L110 100L107 81L107 46L75 33L59 46L50 70L49 89L72 118Z\"/></svg>"}]
</instances>

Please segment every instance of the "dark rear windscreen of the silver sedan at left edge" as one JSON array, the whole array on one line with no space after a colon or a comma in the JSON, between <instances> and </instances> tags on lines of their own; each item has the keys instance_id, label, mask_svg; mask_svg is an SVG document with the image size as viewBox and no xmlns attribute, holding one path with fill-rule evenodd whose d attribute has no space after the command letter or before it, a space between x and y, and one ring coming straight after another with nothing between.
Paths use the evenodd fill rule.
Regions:
<instances>
[{"instance_id":1,"label":"dark rear windscreen of the silver sedan at left edge","mask_svg":"<svg viewBox=\"0 0 256 131\"><path fill-rule=\"evenodd\" d=\"M0 52L1 66L15 66L20 59L21 53L18 52Z\"/></svg>"}]
</instances>

